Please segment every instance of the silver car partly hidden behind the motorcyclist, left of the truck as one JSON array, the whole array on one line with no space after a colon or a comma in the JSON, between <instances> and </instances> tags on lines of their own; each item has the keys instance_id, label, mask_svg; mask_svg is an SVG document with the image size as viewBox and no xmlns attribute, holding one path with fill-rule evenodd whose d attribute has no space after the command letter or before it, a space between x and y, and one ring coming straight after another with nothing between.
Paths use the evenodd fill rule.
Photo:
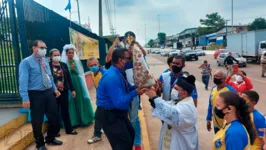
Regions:
<instances>
[{"instance_id":1,"label":"silver car partly hidden behind the motorcyclist, left of the truck","mask_svg":"<svg viewBox=\"0 0 266 150\"><path fill-rule=\"evenodd\" d=\"M217 59L217 66L224 66L224 60L228 56L229 53L221 53ZM239 61L239 67L247 66L247 59L239 55L238 53L232 52L232 56Z\"/></svg>"}]
</instances>

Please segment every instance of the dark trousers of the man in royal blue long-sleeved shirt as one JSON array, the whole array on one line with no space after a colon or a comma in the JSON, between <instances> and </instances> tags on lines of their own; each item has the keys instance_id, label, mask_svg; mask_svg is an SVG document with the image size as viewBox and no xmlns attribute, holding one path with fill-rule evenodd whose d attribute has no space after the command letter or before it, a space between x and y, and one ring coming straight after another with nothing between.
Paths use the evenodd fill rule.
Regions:
<instances>
[{"instance_id":1,"label":"dark trousers of the man in royal blue long-sleeved shirt","mask_svg":"<svg viewBox=\"0 0 266 150\"><path fill-rule=\"evenodd\" d=\"M98 107L96 117L113 150L132 150L135 132L128 120L128 111Z\"/></svg>"}]
</instances>

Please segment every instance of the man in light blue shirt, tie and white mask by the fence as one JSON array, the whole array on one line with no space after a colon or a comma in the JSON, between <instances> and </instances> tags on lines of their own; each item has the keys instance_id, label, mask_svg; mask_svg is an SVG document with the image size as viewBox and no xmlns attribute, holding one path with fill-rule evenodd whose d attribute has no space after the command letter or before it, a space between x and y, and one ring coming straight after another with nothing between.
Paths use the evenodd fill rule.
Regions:
<instances>
[{"instance_id":1,"label":"man in light blue shirt, tie and white mask by the fence","mask_svg":"<svg viewBox=\"0 0 266 150\"><path fill-rule=\"evenodd\" d=\"M46 49L43 41L34 41L33 54L23 59L19 65L19 93L23 100L23 108L31 110L31 124L38 150L46 150L42 134L44 114L49 122L46 143L63 144L55 139L60 130L56 103L56 97L60 96L60 92L56 89L48 61L44 58Z\"/></svg>"}]
</instances>

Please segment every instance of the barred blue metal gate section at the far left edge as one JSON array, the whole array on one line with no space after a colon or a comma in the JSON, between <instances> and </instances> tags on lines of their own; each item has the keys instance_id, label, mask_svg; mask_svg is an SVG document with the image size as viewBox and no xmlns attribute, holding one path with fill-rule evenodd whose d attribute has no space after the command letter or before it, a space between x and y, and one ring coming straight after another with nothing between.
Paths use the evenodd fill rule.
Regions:
<instances>
[{"instance_id":1,"label":"barred blue metal gate section at the far left edge","mask_svg":"<svg viewBox=\"0 0 266 150\"><path fill-rule=\"evenodd\" d=\"M0 2L1 3L1 2ZM0 4L0 103L19 101L20 48L14 0Z\"/></svg>"}]
</instances>

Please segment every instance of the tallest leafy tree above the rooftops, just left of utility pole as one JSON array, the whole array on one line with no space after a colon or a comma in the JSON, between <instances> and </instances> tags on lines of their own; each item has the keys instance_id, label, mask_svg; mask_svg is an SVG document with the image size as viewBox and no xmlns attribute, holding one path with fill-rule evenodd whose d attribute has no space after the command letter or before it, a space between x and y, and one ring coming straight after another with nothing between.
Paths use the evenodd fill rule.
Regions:
<instances>
[{"instance_id":1,"label":"tallest leafy tree above the rooftops, just left of utility pole","mask_svg":"<svg viewBox=\"0 0 266 150\"><path fill-rule=\"evenodd\" d=\"M207 14L206 19L200 19L200 23L207 27L221 28L225 24L225 20L217 13Z\"/></svg>"}]
</instances>

